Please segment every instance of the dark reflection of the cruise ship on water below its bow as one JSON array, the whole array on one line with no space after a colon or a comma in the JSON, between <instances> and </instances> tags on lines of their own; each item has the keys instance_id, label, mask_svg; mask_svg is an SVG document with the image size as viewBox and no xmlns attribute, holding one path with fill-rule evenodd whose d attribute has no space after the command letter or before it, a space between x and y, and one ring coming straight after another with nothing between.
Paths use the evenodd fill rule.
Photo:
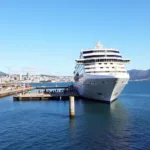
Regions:
<instances>
[{"instance_id":1,"label":"dark reflection of the cruise ship on water below its bow","mask_svg":"<svg viewBox=\"0 0 150 150\"><path fill-rule=\"evenodd\" d=\"M112 145L114 149L124 149L129 146L129 115L119 100L111 105L86 100L77 103L78 115L70 120L71 142L77 149L85 149L87 145L95 149L111 149Z\"/></svg>"}]
</instances>

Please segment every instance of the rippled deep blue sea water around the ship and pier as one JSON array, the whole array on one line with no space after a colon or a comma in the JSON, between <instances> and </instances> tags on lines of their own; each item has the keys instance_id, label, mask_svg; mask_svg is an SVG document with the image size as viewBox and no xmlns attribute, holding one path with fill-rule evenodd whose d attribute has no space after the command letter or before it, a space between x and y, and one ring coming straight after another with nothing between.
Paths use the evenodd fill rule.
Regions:
<instances>
[{"instance_id":1,"label":"rippled deep blue sea water around the ship and pier","mask_svg":"<svg viewBox=\"0 0 150 150\"><path fill-rule=\"evenodd\" d=\"M34 85L36 86L36 85ZM130 82L111 105L0 99L0 150L149 150L150 82Z\"/></svg>"}]
</instances>

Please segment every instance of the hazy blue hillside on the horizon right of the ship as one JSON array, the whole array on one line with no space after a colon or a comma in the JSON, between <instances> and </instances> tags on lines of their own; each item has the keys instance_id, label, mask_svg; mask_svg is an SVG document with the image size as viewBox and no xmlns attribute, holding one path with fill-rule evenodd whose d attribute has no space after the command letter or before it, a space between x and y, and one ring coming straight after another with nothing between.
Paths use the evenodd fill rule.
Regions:
<instances>
[{"instance_id":1,"label":"hazy blue hillside on the horizon right of the ship","mask_svg":"<svg viewBox=\"0 0 150 150\"><path fill-rule=\"evenodd\" d=\"M130 80L149 80L150 79L150 69L149 70L129 70Z\"/></svg>"}]
</instances>

